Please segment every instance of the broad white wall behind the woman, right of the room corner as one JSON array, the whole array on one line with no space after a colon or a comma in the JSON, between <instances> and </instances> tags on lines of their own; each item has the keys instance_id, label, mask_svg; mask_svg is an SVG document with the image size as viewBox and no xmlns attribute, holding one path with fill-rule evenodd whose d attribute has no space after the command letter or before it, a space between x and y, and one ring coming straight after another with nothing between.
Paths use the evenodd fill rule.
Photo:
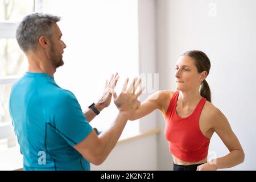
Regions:
<instances>
[{"instance_id":1,"label":"broad white wall behind the woman, right of the room corner","mask_svg":"<svg viewBox=\"0 0 256 182\"><path fill-rule=\"evenodd\" d=\"M160 89L175 89L174 65L179 55L191 49L207 53L212 64L207 78L212 90L212 103L226 115L245 151L245 162L230 169L255 170L256 1L156 2L159 12L157 72L160 73ZM160 119L162 116L159 115ZM164 140L160 142L164 143ZM216 134L210 142L209 151L216 152L217 157L228 154ZM164 158L167 155L160 160ZM166 165L159 168L162 167Z\"/></svg>"}]
</instances>

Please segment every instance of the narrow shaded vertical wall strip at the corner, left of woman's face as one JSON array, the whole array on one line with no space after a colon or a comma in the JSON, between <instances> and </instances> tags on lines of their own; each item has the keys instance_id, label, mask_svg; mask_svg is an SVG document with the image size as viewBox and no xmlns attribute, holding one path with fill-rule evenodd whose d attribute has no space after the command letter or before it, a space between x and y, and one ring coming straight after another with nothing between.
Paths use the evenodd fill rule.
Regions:
<instances>
[{"instance_id":1,"label":"narrow shaded vertical wall strip at the corner, left of woman's face","mask_svg":"<svg viewBox=\"0 0 256 182\"><path fill-rule=\"evenodd\" d=\"M159 90L171 88L170 61L168 59L168 2L155 1L156 5L156 73L159 73ZM168 149L168 142L164 137L165 121L163 115L158 112L158 127L161 129L158 140L158 169L172 170L172 156Z\"/></svg>"}]
</instances>

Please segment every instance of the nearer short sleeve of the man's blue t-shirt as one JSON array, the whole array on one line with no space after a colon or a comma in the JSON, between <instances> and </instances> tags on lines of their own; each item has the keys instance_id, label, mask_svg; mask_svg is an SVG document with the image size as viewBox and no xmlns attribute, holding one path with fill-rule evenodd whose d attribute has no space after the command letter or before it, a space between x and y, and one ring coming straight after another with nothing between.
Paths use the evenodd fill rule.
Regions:
<instances>
[{"instance_id":1,"label":"nearer short sleeve of the man's blue t-shirt","mask_svg":"<svg viewBox=\"0 0 256 182\"><path fill-rule=\"evenodd\" d=\"M53 125L71 146L80 143L92 131L76 97L67 90L57 98Z\"/></svg>"}]
</instances>

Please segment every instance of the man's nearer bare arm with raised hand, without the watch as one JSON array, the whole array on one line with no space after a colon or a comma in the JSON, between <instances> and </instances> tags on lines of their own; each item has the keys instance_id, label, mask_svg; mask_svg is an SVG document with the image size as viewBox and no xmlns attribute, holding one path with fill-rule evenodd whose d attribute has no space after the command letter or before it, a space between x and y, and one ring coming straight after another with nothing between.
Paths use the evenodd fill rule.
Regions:
<instances>
[{"instance_id":1,"label":"man's nearer bare arm with raised hand, without the watch","mask_svg":"<svg viewBox=\"0 0 256 182\"><path fill-rule=\"evenodd\" d=\"M135 80L130 86L131 90L133 90L132 93L122 92L118 97L115 93L113 94L115 105L119 110L119 114L113 122L113 125L99 136L97 136L94 131L91 131L82 142L73 146L90 163L99 165L104 162L117 143L128 118L134 115L135 110L139 107L140 103L137 99L143 90L140 89L139 92L135 94L137 87L134 86L134 84ZM127 82L123 87L125 90L126 86Z\"/></svg>"}]
</instances>

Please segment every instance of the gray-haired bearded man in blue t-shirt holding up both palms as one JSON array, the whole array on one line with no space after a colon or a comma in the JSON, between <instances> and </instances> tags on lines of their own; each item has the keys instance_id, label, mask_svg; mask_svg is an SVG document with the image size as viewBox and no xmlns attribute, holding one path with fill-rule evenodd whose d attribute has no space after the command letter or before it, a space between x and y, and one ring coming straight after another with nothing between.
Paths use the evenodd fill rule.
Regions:
<instances>
[{"instance_id":1,"label":"gray-haired bearded man in blue t-shirt holding up both palms","mask_svg":"<svg viewBox=\"0 0 256 182\"><path fill-rule=\"evenodd\" d=\"M134 78L117 96L114 87L118 74L112 75L96 104L82 113L72 92L60 88L53 77L64 64L65 43L57 22L48 14L27 15L19 24L16 39L28 60L28 71L16 82L10 95L10 115L23 154L24 170L90 170L99 165L117 143L127 119L139 107L135 94L141 80ZM119 113L113 125L97 135L89 122L114 97Z\"/></svg>"}]
</instances>

